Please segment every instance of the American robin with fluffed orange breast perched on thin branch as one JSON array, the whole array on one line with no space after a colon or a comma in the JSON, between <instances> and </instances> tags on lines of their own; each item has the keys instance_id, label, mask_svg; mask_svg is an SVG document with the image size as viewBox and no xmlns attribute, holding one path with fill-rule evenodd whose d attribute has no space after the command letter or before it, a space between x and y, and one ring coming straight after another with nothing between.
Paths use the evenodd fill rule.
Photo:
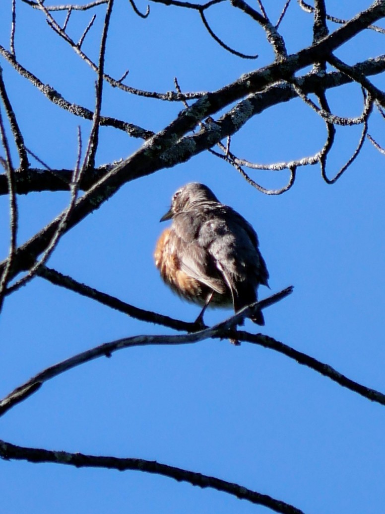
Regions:
<instances>
[{"instance_id":1,"label":"American robin with fluffed orange breast perched on thin branch","mask_svg":"<svg viewBox=\"0 0 385 514\"><path fill-rule=\"evenodd\" d=\"M180 188L160 221L166 219L172 224L157 242L155 264L172 290L203 306L197 323L203 324L208 305L233 305L237 313L257 300L259 284L268 286L255 230L207 186ZM252 320L265 323L261 311Z\"/></svg>"}]
</instances>

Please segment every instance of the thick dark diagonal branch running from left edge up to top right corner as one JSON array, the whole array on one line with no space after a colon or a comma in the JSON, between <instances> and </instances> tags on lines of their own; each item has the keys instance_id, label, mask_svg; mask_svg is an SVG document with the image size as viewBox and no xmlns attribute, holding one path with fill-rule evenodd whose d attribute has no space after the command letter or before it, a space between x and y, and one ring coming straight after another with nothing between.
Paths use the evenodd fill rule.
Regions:
<instances>
[{"instance_id":1,"label":"thick dark diagonal branch running from left edge up to top right corner","mask_svg":"<svg viewBox=\"0 0 385 514\"><path fill-rule=\"evenodd\" d=\"M98 209L106 200L111 198L124 183L140 176L152 174L164 167L172 166L175 160L172 162L172 159L168 158L166 152L170 151L174 153L172 158L175 159L175 151L178 144L181 143L181 138L204 118L215 114L219 109L245 95L262 90L279 80L289 79L294 72L314 61L319 61L325 52L329 53L333 51L333 49L360 32L363 27L383 15L385 15L385 2L375 2L369 9L363 11L349 23L337 29L313 46L301 50L296 54L292 54L280 62L274 62L257 71L242 75L240 79L232 84L213 93L208 93L205 97L197 100L190 107L179 113L177 118L167 127L147 140L137 152L132 154L121 164L118 164L117 167L80 198L76 202L71 214L68 216L66 230L69 230L82 221L88 214ZM250 101L246 100L246 102L248 102L249 108ZM235 128L239 130L238 120L233 120L233 123L235 123ZM205 137L206 146L212 146L221 139L221 137L218 137L220 136L218 131L215 131L215 133L216 140L213 142ZM207 136L207 134L205 134L205 136ZM181 154L179 152L177 153L179 162L183 162ZM195 146L191 149L190 146L187 158L190 158L192 154L195 153L197 153L197 147ZM65 213L62 213L57 216L53 222L33 236L18 250L12 270L14 274L23 269L28 269L31 265L31 261L34 262L37 255L45 250L64 215ZM0 272L2 269L4 269L4 262L0 264Z\"/></svg>"}]
</instances>

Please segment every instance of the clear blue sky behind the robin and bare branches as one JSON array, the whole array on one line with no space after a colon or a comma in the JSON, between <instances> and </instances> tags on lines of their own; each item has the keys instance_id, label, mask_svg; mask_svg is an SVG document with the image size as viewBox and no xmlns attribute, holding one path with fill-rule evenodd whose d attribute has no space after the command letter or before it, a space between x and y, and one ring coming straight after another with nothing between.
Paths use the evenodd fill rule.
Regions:
<instances>
[{"instance_id":1,"label":"clear blue sky behind the robin and bare branches","mask_svg":"<svg viewBox=\"0 0 385 514\"><path fill-rule=\"evenodd\" d=\"M272 21L283 4L265 2ZM370 2L328 4L333 15L346 18ZM145 7L138 3L142 11ZM2 10L0 44L7 47L10 5ZM129 68L126 83L148 90L172 90L175 76L182 90L219 88L273 57L262 31L234 11L217 6L207 17L229 46L258 53L257 61L230 56L210 39L195 12L151 4L148 19L142 20L128 2L115 0L106 71L119 78ZM103 12L98 9L84 46L93 59ZM90 16L72 15L74 39ZM57 18L64 20L63 15ZM311 22L293 0L281 26L289 52L311 44ZM337 55L354 63L381 52L383 35L368 32ZM67 100L93 109L93 72L52 33L40 12L18 0L16 55ZM5 61L1 65L28 148L52 168L72 168L76 125L86 138L90 123L61 111ZM373 82L385 87L383 77ZM328 98L336 114L361 113L356 86L330 91ZM102 114L157 131L181 108L106 85ZM369 132L382 145L383 126L375 113ZM360 130L337 127L328 160L331 175L354 151ZM234 137L233 151L270 163L311 155L324 137L323 122L297 100L255 117ZM140 144L102 128L97 163L125 158ZM367 142L334 186L322 181L319 167L307 167L299 169L289 192L266 196L205 153L128 183L63 237L49 265L128 303L194 320L198 307L166 288L152 253L165 228L158 221L172 193L188 181L204 182L257 230L272 291L295 286L291 297L265 310L262 333L385 392L384 171L384 157ZM287 179L286 172L252 176L265 187L283 186ZM68 193L20 197L19 243L61 212L68 200ZM8 198L1 197L1 258L8 241ZM262 298L269 293L260 289ZM205 321L215 323L229 314L209 310ZM256 326L247 321L246 328L255 331ZM4 305L0 397L73 354L121 337L157 333L171 331L36 278ZM380 514L385 505L384 426L384 407L287 357L247 343L235 347L226 340L208 340L131 348L80 366L47 382L2 417L0 438L22 446L156 460L242 484L306 513ZM0 476L7 514L267 512L224 493L139 472L2 461Z\"/></svg>"}]
</instances>

